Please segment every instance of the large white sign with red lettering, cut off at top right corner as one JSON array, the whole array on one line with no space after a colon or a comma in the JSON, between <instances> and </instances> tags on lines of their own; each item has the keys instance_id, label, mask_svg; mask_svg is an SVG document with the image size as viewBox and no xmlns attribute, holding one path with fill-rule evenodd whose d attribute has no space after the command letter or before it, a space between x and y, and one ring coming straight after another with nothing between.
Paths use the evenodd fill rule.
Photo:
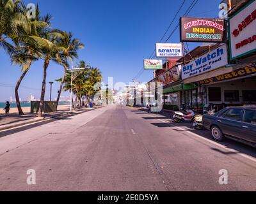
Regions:
<instances>
[{"instance_id":1,"label":"large white sign with red lettering, cut off at top right corner","mask_svg":"<svg viewBox=\"0 0 256 204\"><path fill-rule=\"evenodd\" d=\"M230 60L256 51L256 1L229 19Z\"/></svg>"}]
</instances>

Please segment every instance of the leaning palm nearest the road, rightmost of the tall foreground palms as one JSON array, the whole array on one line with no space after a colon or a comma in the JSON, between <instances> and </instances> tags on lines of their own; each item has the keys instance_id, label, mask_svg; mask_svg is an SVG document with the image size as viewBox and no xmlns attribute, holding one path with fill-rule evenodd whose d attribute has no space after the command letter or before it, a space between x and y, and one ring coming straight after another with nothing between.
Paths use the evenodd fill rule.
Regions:
<instances>
[{"instance_id":1,"label":"leaning palm nearest the road, rightmost of the tall foreground palms","mask_svg":"<svg viewBox=\"0 0 256 204\"><path fill-rule=\"evenodd\" d=\"M72 33L63 32L62 34L63 34L63 38L60 38L58 45L65 48L65 50L63 50L61 54L64 73L60 83L60 90L58 91L57 106L60 101L61 91L62 91L63 83L65 80L65 75L69 67L67 64L68 60L72 62L74 58L78 58L77 50L84 48L84 44L81 43L81 41L79 41L77 38L73 38Z\"/></svg>"}]
</instances>

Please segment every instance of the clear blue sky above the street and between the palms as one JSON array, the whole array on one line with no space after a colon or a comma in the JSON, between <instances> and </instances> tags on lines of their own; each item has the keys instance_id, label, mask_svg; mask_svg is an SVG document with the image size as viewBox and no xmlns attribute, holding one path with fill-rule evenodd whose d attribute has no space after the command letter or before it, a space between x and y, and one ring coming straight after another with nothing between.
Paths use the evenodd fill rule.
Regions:
<instances>
[{"instance_id":1,"label":"clear blue sky above the street and between the palms","mask_svg":"<svg viewBox=\"0 0 256 204\"><path fill-rule=\"evenodd\" d=\"M184 15L193 0L186 0L179 17ZM114 77L115 82L129 83L143 67L147 59L163 36L182 1L178 0L101 0L101 1L61 1L30 0L25 3L38 3L42 14L51 13L54 17L52 27L72 31L76 38L85 44L79 51L79 60L100 68L104 80ZM218 17L220 0L199 0L189 16ZM173 27L179 22L175 20ZM166 38L164 38L164 41ZM168 41L179 42L179 29ZM194 48L196 43L189 43ZM78 61L78 60L77 60ZM13 66L9 57L0 49L0 101L15 97L13 87L20 77L19 66ZM26 88L20 89L20 97L26 98L30 93L40 96L42 85L43 62L33 64L22 82ZM47 82L60 78L63 68L51 63L48 69ZM140 82L148 82L153 77L152 71L144 71ZM52 97L57 95L59 84L54 83ZM64 94L67 96L67 93ZM45 99L49 99L49 84Z\"/></svg>"}]
</instances>

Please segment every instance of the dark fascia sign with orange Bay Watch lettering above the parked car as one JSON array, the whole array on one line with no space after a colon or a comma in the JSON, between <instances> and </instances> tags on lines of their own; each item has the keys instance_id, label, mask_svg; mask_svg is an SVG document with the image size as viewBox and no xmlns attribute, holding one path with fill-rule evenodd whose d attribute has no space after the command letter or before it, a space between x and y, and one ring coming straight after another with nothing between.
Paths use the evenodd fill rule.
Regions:
<instances>
[{"instance_id":1,"label":"dark fascia sign with orange Bay Watch lettering above the parked car","mask_svg":"<svg viewBox=\"0 0 256 204\"><path fill-rule=\"evenodd\" d=\"M232 71L230 73L227 73L225 75L219 75L217 77L207 78L205 80L201 80L197 82L199 85L207 85L212 84L215 82L223 82L225 80L240 78L240 77L246 77L250 75L256 75L256 66L255 64L252 64L250 66L246 66L244 68L236 69L235 71Z\"/></svg>"}]
</instances>

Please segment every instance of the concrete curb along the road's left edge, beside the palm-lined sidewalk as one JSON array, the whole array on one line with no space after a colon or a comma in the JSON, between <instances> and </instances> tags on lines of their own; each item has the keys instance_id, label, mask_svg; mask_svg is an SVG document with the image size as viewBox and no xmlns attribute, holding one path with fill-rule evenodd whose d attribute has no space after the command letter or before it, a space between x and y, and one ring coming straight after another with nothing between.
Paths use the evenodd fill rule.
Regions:
<instances>
[{"instance_id":1,"label":"concrete curb along the road's left edge, beside the palm-lined sidewalk","mask_svg":"<svg viewBox=\"0 0 256 204\"><path fill-rule=\"evenodd\" d=\"M76 112L73 112L73 113L66 112L66 113L60 113L58 115L52 115L52 116L49 116L49 117L41 117L41 118L35 118L35 119L29 119L29 120L25 120L25 121L21 121L21 122L16 122L16 123L13 123L13 124L10 124L10 125L0 126L0 131L5 131L5 130L7 131L8 129L19 128L20 126L26 126L26 125L32 124L34 122L41 122L41 121L49 120L49 119L55 119L56 117L65 117L65 116L68 116L68 115L71 116L71 115L81 114L81 113L89 112L89 111L96 110L98 108L103 108L103 107L104 106L100 106L100 107L97 107L97 108L93 108L91 110L79 110L79 111L76 111Z\"/></svg>"}]
</instances>

